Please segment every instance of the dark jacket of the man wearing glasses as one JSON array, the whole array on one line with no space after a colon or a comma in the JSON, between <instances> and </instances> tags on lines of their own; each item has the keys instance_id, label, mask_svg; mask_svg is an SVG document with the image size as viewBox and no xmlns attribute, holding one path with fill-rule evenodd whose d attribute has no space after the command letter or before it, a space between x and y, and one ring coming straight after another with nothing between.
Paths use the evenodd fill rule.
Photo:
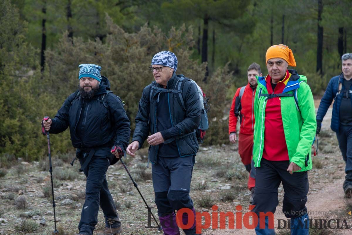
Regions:
<instances>
[{"instance_id":1,"label":"dark jacket of the man wearing glasses","mask_svg":"<svg viewBox=\"0 0 352 235\"><path fill-rule=\"evenodd\" d=\"M175 89L178 79L174 73L172 78L168 81L167 88ZM161 87L156 84L157 87ZM150 102L150 92L152 84L143 89L142 97L139 100L138 113L136 116L136 129L133 133L133 141L139 142L139 148L142 147L144 141L148 137L149 132L155 134L157 132L157 99L159 91L152 93L152 101ZM176 88L177 90L177 88ZM173 137L180 137L193 132L198 128L201 116L201 106L199 101L199 94L196 86L191 81L184 83L182 88L182 97L186 106L183 109L179 95L176 93L167 93L168 109L171 119L171 128L161 131L164 140L167 141ZM177 130L177 131L175 131ZM198 151L199 145L195 132L191 135L179 138L176 141L178 155L180 157L195 155ZM150 161L155 164L157 162L158 145L149 147Z\"/></svg>"}]
</instances>

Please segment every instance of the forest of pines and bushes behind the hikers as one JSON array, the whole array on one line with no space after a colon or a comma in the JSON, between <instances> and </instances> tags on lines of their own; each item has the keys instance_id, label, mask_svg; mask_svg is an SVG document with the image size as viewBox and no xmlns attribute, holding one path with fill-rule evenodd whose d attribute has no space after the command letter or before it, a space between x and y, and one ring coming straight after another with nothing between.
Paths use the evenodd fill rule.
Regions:
<instances>
[{"instance_id":1,"label":"forest of pines and bushes behind the hikers","mask_svg":"<svg viewBox=\"0 0 352 235\"><path fill-rule=\"evenodd\" d=\"M134 117L153 80L151 58L173 51L177 73L209 97L204 144L228 142L236 89L265 52L286 44L313 94L322 95L352 52L350 0L0 0L0 167L47 152L43 116L54 117L77 89L78 64L96 63ZM52 135L54 154L73 151L69 131Z\"/></svg>"}]
</instances>

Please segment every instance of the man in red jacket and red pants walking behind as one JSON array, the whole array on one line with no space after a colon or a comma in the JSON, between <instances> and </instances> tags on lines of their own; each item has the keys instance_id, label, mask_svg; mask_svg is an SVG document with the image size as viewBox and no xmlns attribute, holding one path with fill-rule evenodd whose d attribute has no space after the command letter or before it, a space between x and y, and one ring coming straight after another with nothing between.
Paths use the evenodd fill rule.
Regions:
<instances>
[{"instance_id":1,"label":"man in red jacket and red pants walking behind","mask_svg":"<svg viewBox=\"0 0 352 235\"><path fill-rule=\"evenodd\" d=\"M252 192L250 203L253 201L255 186L255 169L252 165L253 152L253 130L254 130L254 93L257 88L256 76L262 76L262 71L257 63L252 63L247 69L248 84L239 87L232 99L230 117L228 120L228 132L231 143L236 143L236 125L238 117L240 118L240 132L238 136L238 153L243 165L250 173L248 179L248 189Z\"/></svg>"}]
</instances>

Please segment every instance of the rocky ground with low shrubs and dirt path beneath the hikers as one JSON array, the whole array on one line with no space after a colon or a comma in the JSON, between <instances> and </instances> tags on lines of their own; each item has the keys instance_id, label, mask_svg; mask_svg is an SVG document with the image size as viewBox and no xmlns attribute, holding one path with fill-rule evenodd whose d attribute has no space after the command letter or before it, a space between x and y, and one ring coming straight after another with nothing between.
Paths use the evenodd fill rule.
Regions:
<instances>
[{"instance_id":1,"label":"rocky ground with low shrubs and dirt path beneath the hikers","mask_svg":"<svg viewBox=\"0 0 352 235\"><path fill-rule=\"evenodd\" d=\"M314 219L334 219L335 222L332 221L330 226L334 227L333 225L337 225L337 219L340 219L341 227L345 219L350 228L352 216L348 212L352 210L352 201L343 198L344 161L336 137L329 129L330 116L328 113L324 120L319 137L319 153L313 157L314 169L308 173L310 188L307 208L313 222ZM55 146L55 143L51 144ZM153 214L157 216L153 202L151 167L145 167L146 154L147 150L142 149L139 156L127 157L125 163L147 203L153 208ZM84 203L85 176L78 172L79 163L75 163L74 167L69 165L72 157L69 154L52 156L56 221L60 235L78 232L77 225ZM54 230L54 215L48 159L30 163L19 160L18 164L10 169L0 169L0 177L0 234L51 234ZM124 228L122 234L162 234L156 228L145 228L147 210L120 162L108 169L107 179ZM246 215L250 196L246 181L247 172L238 156L237 144L201 147L196 156L191 186L191 197L197 211L211 213L211 206L217 205L219 214L241 212L242 216ZM277 220L285 219L280 213L284 193L282 186L278 191L280 204L275 213L276 228ZM101 211L98 221L96 230L104 227ZM251 223L251 217L249 221ZM153 221L152 225L155 226ZM226 229L212 229L212 225L203 229L202 234L254 234L254 231L245 228L244 224L242 229L229 229L228 223ZM310 234L352 234L346 226L343 228L311 229ZM276 231L277 234L289 234L286 229Z\"/></svg>"}]
</instances>

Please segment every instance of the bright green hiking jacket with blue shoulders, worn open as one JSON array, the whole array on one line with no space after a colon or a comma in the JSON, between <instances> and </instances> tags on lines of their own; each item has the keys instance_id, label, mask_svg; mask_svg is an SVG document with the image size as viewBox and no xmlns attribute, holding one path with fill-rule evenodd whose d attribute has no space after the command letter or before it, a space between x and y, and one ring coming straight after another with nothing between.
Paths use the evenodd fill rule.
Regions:
<instances>
[{"instance_id":1,"label":"bright green hiking jacket with blue shoulders, worn open","mask_svg":"<svg viewBox=\"0 0 352 235\"><path fill-rule=\"evenodd\" d=\"M293 93L295 97L281 97L282 123L290 162L301 167L300 171L312 169L311 146L316 132L315 107L312 91L306 76L298 75L296 70L289 70L291 77L282 93ZM268 94L265 77L258 77L258 86L254 96L254 146L253 161L260 167L264 149L264 121L266 98ZM298 104L298 107L297 107Z\"/></svg>"}]
</instances>

